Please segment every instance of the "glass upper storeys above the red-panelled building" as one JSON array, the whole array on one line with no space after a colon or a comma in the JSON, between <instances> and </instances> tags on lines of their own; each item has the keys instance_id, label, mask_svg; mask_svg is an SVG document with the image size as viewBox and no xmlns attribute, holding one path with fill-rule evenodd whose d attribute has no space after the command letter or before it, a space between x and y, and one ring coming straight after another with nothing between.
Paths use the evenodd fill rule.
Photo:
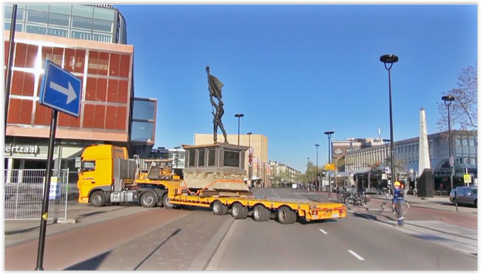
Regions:
<instances>
[{"instance_id":1,"label":"glass upper storeys above the red-panelled building","mask_svg":"<svg viewBox=\"0 0 481 274\"><path fill-rule=\"evenodd\" d=\"M115 43L117 10L93 5L18 5L19 32ZM5 5L4 30L10 30L12 4ZM115 26L115 27L114 27Z\"/></svg>"}]
</instances>

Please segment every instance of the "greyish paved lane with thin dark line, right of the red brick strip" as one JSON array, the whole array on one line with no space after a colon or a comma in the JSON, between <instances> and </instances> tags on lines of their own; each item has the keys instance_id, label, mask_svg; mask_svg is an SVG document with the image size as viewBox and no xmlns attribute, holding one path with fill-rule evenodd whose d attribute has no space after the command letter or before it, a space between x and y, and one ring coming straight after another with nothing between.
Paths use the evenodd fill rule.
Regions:
<instances>
[{"instance_id":1,"label":"greyish paved lane with thin dark line, right of the red brick strip","mask_svg":"<svg viewBox=\"0 0 481 274\"><path fill-rule=\"evenodd\" d=\"M69 270L186 270L228 218L194 212Z\"/></svg>"}]
</instances>

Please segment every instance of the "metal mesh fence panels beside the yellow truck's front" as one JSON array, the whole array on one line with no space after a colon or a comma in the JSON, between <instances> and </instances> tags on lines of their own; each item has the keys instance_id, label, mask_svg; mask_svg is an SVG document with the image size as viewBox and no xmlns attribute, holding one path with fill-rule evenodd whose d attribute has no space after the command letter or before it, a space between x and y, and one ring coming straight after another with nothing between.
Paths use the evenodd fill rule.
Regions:
<instances>
[{"instance_id":1,"label":"metal mesh fence panels beside the yellow truck's front","mask_svg":"<svg viewBox=\"0 0 481 274\"><path fill-rule=\"evenodd\" d=\"M4 220L39 220L46 170L5 170ZM52 170L48 219L67 218L69 170Z\"/></svg>"}]
</instances>

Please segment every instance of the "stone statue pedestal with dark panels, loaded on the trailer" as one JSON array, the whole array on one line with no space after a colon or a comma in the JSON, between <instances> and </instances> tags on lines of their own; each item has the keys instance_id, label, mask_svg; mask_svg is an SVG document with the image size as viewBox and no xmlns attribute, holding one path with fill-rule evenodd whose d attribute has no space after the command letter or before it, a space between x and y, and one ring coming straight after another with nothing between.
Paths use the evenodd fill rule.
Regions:
<instances>
[{"instance_id":1,"label":"stone statue pedestal with dark panels, loaded on the trailer","mask_svg":"<svg viewBox=\"0 0 481 274\"><path fill-rule=\"evenodd\" d=\"M222 196L249 192L244 182L247 146L216 143L182 147L186 150L183 179L189 190L209 190Z\"/></svg>"}]
</instances>

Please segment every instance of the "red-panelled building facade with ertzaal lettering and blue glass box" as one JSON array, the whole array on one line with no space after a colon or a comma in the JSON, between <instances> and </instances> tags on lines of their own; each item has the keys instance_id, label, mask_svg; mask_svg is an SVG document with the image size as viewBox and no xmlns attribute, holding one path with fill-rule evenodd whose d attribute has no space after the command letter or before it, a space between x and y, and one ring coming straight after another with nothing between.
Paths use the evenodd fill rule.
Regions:
<instances>
[{"instance_id":1,"label":"red-panelled building facade with ertzaal lettering and blue glass box","mask_svg":"<svg viewBox=\"0 0 481 274\"><path fill-rule=\"evenodd\" d=\"M5 77L9 38L5 30ZM82 80L80 117L59 113L56 168L76 171L75 158L91 144L127 146L131 154L148 155L155 141L157 101L134 97L132 45L23 32L16 32L15 42L5 169L45 168L52 118L52 111L38 104L45 58Z\"/></svg>"}]
</instances>

